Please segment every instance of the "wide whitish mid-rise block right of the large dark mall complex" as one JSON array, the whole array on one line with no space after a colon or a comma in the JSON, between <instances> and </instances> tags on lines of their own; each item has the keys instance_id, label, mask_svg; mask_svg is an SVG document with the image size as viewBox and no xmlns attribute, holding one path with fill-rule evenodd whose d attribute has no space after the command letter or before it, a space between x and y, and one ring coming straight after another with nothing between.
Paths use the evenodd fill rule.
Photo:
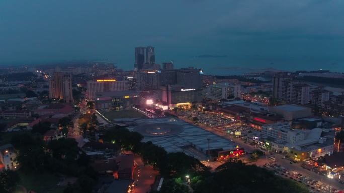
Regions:
<instances>
[{"instance_id":1,"label":"wide whitish mid-rise block right of the large dark mall complex","mask_svg":"<svg viewBox=\"0 0 344 193\"><path fill-rule=\"evenodd\" d=\"M214 84L208 89L208 97L215 100L241 98L240 85Z\"/></svg>"}]
</instances>

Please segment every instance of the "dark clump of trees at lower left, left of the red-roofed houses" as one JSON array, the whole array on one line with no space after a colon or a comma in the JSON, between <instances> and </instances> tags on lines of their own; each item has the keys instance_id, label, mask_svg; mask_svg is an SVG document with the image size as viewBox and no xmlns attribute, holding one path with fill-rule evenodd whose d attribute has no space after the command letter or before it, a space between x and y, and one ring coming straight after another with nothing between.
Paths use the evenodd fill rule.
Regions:
<instances>
[{"instance_id":1,"label":"dark clump of trees at lower left, left of the red-roofed houses","mask_svg":"<svg viewBox=\"0 0 344 193\"><path fill-rule=\"evenodd\" d=\"M52 173L78 177L77 182L66 188L67 192L91 192L97 173L89 166L89 157L72 138L50 142L29 133L15 135L11 143L19 151L16 161L25 173Z\"/></svg>"}]
</instances>

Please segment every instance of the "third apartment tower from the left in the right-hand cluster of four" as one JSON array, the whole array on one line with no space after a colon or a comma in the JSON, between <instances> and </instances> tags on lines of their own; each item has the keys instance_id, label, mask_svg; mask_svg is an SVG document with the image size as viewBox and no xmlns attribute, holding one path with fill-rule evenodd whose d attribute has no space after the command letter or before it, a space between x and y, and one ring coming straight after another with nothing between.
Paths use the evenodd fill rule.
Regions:
<instances>
[{"instance_id":1,"label":"third apartment tower from the left in the right-hand cluster of four","mask_svg":"<svg viewBox=\"0 0 344 193\"><path fill-rule=\"evenodd\" d=\"M304 83L293 85L291 102L304 105L308 104L309 100L309 85Z\"/></svg>"}]
</instances>

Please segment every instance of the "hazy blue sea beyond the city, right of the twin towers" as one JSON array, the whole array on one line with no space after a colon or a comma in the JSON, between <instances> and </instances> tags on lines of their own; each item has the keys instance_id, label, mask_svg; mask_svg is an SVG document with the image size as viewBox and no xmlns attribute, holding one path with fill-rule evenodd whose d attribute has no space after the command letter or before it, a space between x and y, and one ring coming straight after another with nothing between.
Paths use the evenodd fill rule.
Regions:
<instances>
[{"instance_id":1,"label":"hazy blue sea beyond the city, right of the twin towers","mask_svg":"<svg viewBox=\"0 0 344 193\"><path fill-rule=\"evenodd\" d=\"M193 66L211 75L241 75L244 73L264 72L267 70L330 70L344 72L344 61L331 59L264 59L264 58L183 58L174 61L175 68Z\"/></svg>"}]
</instances>

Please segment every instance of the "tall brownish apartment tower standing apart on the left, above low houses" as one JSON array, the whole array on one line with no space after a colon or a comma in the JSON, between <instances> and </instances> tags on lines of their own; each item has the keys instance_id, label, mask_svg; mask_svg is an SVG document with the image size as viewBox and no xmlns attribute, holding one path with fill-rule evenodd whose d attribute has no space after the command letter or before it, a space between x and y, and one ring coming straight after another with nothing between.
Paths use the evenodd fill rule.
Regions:
<instances>
[{"instance_id":1,"label":"tall brownish apartment tower standing apart on the left, above low houses","mask_svg":"<svg viewBox=\"0 0 344 193\"><path fill-rule=\"evenodd\" d=\"M49 79L49 98L72 103L74 101L72 90L70 73L53 73Z\"/></svg>"}]
</instances>

